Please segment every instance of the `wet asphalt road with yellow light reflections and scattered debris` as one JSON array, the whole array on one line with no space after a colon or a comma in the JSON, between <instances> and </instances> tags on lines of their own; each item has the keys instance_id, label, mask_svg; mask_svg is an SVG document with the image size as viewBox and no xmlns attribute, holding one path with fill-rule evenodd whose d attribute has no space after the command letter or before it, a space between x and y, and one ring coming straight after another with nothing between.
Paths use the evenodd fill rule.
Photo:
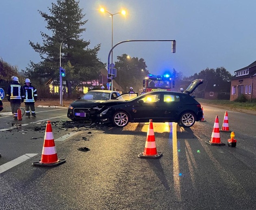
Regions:
<instances>
[{"instance_id":1,"label":"wet asphalt road with yellow light reflections and scattered debris","mask_svg":"<svg viewBox=\"0 0 256 210\"><path fill-rule=\"evenodd\" d=\"M22 120L29 124L18 126L21 130L11 128L8 117L0 118L0 129L11 128L0 131L0 167L35 154L0 173L1 209L256 209L256 116L227 110L236 147L205 143L216 115L221 129L225 109L204 106L206 122L191 128L153 122L157 151L163 156L144 159L138 154L145 147L148 123L90 127L66 122L67 110L57 109L42 108L37 119ZM54 121L58 157L66 163L34 167L49 119ZM25 130L28 134L22 134ZM220 137L227 143L230 133Z\"/></svg>"}]
</instances>

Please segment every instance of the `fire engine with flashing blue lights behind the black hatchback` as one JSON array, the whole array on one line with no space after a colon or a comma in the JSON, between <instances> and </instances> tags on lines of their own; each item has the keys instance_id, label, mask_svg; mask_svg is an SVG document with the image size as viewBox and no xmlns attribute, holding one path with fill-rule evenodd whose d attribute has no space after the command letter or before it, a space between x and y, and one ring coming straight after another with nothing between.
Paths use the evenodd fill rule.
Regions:
<instances>
[{"instance_id":1,"label":"fire engine with flashing blue lights behind the black hatchback","mask_svg":"<svg viewBox=\"0 0 256 210\"><path fill-rule=\"evenodd\" d=\"M171 78L169 74L164 75L154 75L148 74L148 76L143 80L143 87L146 91L171 91L174 89L174 78Z\"/></svg>"}]
</instances>

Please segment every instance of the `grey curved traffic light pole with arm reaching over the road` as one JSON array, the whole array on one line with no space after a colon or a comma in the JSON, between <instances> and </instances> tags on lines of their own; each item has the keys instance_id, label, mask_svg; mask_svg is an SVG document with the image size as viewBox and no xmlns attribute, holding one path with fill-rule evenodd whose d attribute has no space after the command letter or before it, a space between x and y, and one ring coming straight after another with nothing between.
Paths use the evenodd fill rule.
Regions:
<instances>
[{"instance_id":1,"label":"grey curved traffic light pole with arm reaching over the road","mask_svg":"<svg viewBox=\"0 0 256 210\"><path fill-rule=\"evenodd\" d=\"M113 76L111 75L110 77L109 77L109 74L112 74L112 69L113 69L113 66L111 65L111 72L110 72L110 55L112 54L112 51L113 51L113 49L117 46L117 45L119 45L119 44L121 44L121 43L125 43L125 42L132 42L132 41L171 41L172 42L172 45L171 45L171 52L172 53L176 53L176 40L126 40L126 41L120 41L120 42L118 42L115 46L113 46L112 48L111 48L111 50L109 51L109 53L108 53L108 79L111 79L111 82L108 82L108 90L110 90L110 87L111 87L111 91L113 91ZM113 54L112 54L112 56L113 56ZM113 63L113 58L112 58L112 63Z\"/></svg>"}]
</instances>

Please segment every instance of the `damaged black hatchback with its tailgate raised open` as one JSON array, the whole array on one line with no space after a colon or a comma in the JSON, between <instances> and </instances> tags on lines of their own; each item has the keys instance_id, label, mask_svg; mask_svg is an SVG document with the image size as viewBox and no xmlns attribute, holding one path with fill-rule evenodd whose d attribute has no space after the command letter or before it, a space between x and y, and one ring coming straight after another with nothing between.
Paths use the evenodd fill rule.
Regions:
<instances>
[{"instance_id":1,"label":"damaged black hatchback with its tailgate raised open","mask_svg":"<svg viewBox=\"0 0 256 210\"><path fill-rule=\"evenodd\" d=\"M93 122L113 123L124 127L129 122L177 122L182 127L191 127L200 121L203 111L191 95L202 84L202 79L191 82L184 93L174 91L151 91L131 100L108 100L100 104L92 104L82 116ZM121 95L119 97L125 97Z\"/></svg>"}]
</instances>

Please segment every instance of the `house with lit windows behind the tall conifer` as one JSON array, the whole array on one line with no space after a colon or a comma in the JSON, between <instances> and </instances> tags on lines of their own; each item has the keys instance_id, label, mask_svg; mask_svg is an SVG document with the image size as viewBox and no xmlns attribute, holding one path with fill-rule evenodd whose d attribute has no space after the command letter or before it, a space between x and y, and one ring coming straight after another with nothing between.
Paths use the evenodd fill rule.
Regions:
<instances>
[{"instance_id":1,"label":"house with lit windows behind the tall conifer","mask_svg":"<svg viewBox=\"0 0 256 210\"><path fill-rule=\"evenodd\" d=\"M102 84L104 85L105 89L107 89L107 74L108 71L106 68L100 69L99 72L99 78L95 80L90 80L90 81L82 81L80 84L74 84L72 87L77 90L77 95L78 97L87 93L89 90L101 87ZM58 97L59 96L59 80L58 79L53 79L51 78L48 82L46 82L46 86L49 87L50 90L50 97ZM100 88L99 88L100 89ZM66 98L65 93L67 93L67 86L66 86L66 81L63 79L63 90L64 90L64 96L63 98ZM124 89L117 84L115 80L113 80L113 91L118 91L122 93Z\"/></svg>"}]
</instances>

